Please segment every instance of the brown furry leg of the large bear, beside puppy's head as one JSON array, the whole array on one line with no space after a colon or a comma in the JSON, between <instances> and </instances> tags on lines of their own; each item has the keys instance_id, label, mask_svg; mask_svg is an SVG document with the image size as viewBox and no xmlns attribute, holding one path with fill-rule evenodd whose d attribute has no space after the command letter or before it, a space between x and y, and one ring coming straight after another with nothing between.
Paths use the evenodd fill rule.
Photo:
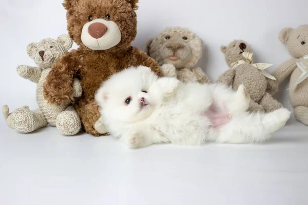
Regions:
<instances>
[{"instance_id":1,"label":"brown furry leg of the large bear, beside puppy's head","mask_svg":"<svg viewBox=\"0 0 308 205\"><path fill-rule=\"evenodd\" d=\"M94 100L80 100L75 106L76 111L78 112L82 125L85 131L93 136L102 136L107 135L107 133L100 134L95 130L95 123L99 120L100 112L99 106L95 103Z\"/></svg>"}]
</instances>

